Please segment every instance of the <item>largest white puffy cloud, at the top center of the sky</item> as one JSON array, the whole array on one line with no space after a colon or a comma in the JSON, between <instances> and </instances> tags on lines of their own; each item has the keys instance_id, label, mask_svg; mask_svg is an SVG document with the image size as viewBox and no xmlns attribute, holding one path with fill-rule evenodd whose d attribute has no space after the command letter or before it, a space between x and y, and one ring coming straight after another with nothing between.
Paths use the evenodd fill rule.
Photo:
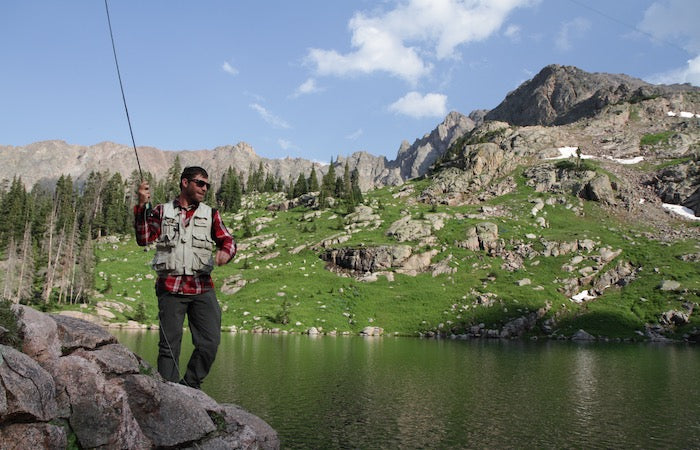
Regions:
<instances>
[{"instance_id":1,"label":"largest white puffy cloud, at the top center of the sky","mask_svg":"<svg viewBox=\"0 0 700 450\"><path fill-rule=\"evenodd\" d=\"M513 9L538 0L409 0L392 10L356 13L348 24L352 51L314 48L307 61L320 75L386 72L415 84L459 45L496 32Z\"/></svg>"}]
</instances>

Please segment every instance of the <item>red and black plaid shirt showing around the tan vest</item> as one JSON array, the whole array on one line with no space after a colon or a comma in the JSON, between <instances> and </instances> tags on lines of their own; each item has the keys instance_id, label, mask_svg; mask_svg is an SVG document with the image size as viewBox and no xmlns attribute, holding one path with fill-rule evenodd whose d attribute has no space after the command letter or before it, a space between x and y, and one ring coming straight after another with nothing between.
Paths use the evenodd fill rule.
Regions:
<instances>
[{"instance_id":1,"label":"red and black plaid shirt showing around the tan vest","mask_svg":"<svg viewBox=\"0 0 700 450\"><path fill-rule=\"evenodd\" d=\"M196 207L182 208L178 199L173 200L173 205L180 211L180 219L184 226L188 226L194 215ZM160 236L160 224L163 220L163 205L157 205L147 215L144 207L134 207L134 228L136 230L136 242L139 245L148 245ZM221 220L221 214L214 210L212 214L211 237L218 250L222 250L231 256L236 255L236 241L226 229ZM201 294L214 288L214 282L210 275L168 275L159 276L156 287L175 294Z\"/></svg>"}]
</instances>

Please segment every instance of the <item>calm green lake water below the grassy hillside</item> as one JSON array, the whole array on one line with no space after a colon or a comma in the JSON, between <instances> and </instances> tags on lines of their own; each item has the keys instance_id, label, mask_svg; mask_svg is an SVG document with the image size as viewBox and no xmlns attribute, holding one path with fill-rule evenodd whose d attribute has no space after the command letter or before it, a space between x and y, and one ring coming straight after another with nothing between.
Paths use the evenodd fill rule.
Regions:
<instances>
[{"instance_id":1,"label":"calm green lake water below the grassy hillside","mask_svg":"<svg viewBox=\"0 0 700 450\"><path fill-rule=\"evenodd\" d=\"M155 366L157 331L112 332ZM202 388L283 448L699 448L699 373L680 344L223 333Z\"/></svg>"}]
</instances>

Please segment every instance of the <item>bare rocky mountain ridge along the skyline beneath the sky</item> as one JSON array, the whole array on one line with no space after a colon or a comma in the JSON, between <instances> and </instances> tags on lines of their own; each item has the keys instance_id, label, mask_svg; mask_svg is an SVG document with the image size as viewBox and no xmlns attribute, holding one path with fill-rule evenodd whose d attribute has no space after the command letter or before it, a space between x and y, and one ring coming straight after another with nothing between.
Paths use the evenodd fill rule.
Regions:
<instances>
[{"instance_id":1,"label":"bare rocky mountain ridge along the skyline beneath the sky","mask_svg":"<svg viewBox=\"0 0 700 450\"><path fill-rule=\"evenodd\" d=\"M640 107L642 104L644 106ZM669 114L688 111L700 112L700 88L657 86L626 75L588 73L576 67L550 65L509 93L491 111L474 111L469 116L450 112L433 131L413 144L404 141L395 160L355 152L348 157L338 157L336 164L344 165L347 161L351 168L356 167L360 173L360 187L365 191L400 185L426 175L434 162L475 128L485 126L493 130L489 125L492 122L505 122L514 128L539 127L520 132L520 141L509 149L504 147L506 151L519 151L515 148L519 147L530 155L539 152L553 155L559 147L581 146L586 152L605 153L611 157L640 155L644 151L640 147L642 136L668 131L668 126L672 126L678 129L674 139L682 141L681 147L685 148L685 152L674 150L674 156L678 157L696 148L697 120L685 120L685 125L678 125L681 122L678 117ZM671 123L673 120L678 123ZM523 139L526 134L532 138ZM525 149L527 145L532 147ZM260 163L267 172L284 181L296 179L299 173L308 174L312 166L317 173L327 171L327 166L302 158L260 157L245 142L213 150L162 151L141 147L138 151L144 170L157 178L165 176L176 156L183 166L207 167L214 181L230 166L247 176L250 168L257 168ZM658 149L654 153L660 156ZM111 142L80 146L44 141L22 147L0 146L0 180L21 176L27 187L34 183L52 185L61 174L71 175L80 183L91 171L117 171L128 177L135 168L133 149Z\"/></svg>"}]
</instances>

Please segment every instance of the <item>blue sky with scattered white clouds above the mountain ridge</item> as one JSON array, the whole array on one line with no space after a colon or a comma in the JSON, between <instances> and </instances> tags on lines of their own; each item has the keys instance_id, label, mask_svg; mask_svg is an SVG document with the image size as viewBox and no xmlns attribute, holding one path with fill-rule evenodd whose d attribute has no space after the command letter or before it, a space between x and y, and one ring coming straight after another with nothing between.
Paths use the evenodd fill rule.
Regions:
<instances>
[{"instance_id":1,"label":"blue sky with scattered white clouds above the mountain ridge","mask_svg":"<svg viewBox=\"0 0 700 450\"><path fill-rule=\"evenodd\" d=\"M110 0L138 146L394 159L548 64L700 85L697 0ZM0 4L0 145L131 145L101 0Z\"/></svg>"}]
</instances>

